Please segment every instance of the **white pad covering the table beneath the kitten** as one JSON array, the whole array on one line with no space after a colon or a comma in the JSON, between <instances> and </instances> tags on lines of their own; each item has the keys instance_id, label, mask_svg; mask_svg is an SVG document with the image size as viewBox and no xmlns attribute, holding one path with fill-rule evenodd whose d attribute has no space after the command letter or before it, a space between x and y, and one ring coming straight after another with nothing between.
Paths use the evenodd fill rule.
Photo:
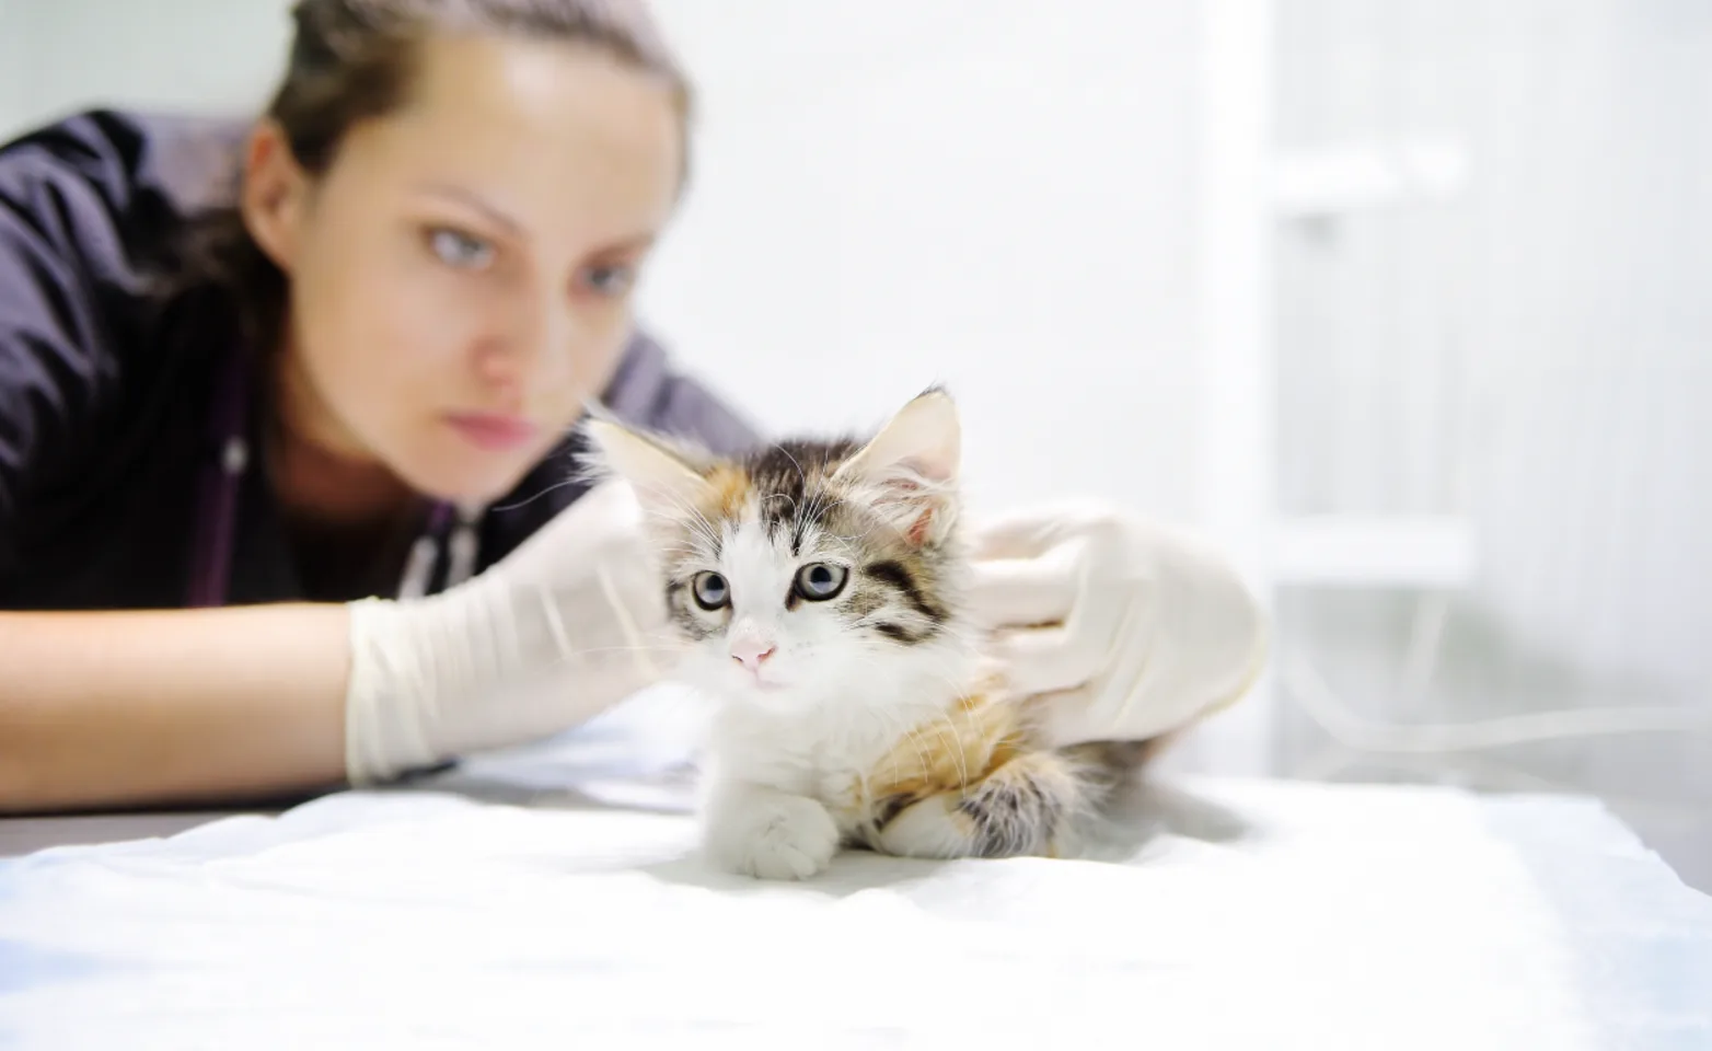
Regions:
<instances>
[{"instance_id":1,"label":"white pad covering the table beneath the kitten","mask_svg":"<svg viewBox=\"0 0 1712 1051\"><path fill-rule=\"evenodd\" d=\"M1712 1048L1712 899L1585 799L1185 779L781 885L627 741L0 861L0 1048Z\"/></svg>"}]
</instances>

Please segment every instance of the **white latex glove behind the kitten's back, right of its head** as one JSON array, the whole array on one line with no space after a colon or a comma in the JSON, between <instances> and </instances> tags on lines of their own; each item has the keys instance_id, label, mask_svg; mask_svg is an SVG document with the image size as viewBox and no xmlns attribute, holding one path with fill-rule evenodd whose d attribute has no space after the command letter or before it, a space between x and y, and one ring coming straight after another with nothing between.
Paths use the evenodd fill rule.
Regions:
<instances>
[{"instance_id":1,"label":"white latex glove behind the kitten's back, right of its head","mask_svg":"<svg viewBox=\"0 0 1712 1051\"><path fill-rule=\"evenodd\" d=\"M1103 507L972 524L971 601L1055 745L1147 741L1241 698L1265 662L1251 592L1207 544Z\"/></svg>"}]
</instances>

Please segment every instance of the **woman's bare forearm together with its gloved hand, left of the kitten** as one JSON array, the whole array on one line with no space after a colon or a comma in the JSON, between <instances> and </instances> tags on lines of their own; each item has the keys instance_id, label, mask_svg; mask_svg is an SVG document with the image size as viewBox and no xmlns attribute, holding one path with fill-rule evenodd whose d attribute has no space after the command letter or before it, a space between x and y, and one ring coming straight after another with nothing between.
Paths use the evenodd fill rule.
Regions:
<instances>
[{"instance_id":1,"label":"woman's bare forearm together with its gloved hand, left of the kitten","mask_svg":"<svg viewBox=\"0 0 1712 1051\"><path fill-rule=\"evenodd\" d=\"M0 813L385 781L575 726L676 650L628 486L426 599L0 613Z\"/></svg>"}]
</instances>

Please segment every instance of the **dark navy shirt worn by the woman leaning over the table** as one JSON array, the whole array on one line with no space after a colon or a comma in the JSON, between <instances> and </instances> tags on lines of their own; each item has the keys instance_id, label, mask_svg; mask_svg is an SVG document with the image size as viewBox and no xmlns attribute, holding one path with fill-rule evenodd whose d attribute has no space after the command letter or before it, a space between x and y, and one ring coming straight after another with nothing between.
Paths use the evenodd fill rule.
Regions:
<instances>
[{"instance_id":1,"label":"dark navy shirt worn by the woman leaning over the table","mask_svg":"<svg viewBox=\"0 0 1712 1051\"><path fill-rule=\"evenodd\" d=\"M0 145L0 608L185 604L199 479L221 455L216 377L238 349L231 303L161 296L161 246L216 204L243 128L80 113ZM621 419L733 452L755 433L637 332L603 401ZM253 436L252 436L253 447ZM567 440L479 526L478 570L584 493ZM402 537L407 544L409 537ZM265 474L243 476L229 604L392 594L382 572L305 584ZM445 558L433 577L443 585ZM342 585L341 585L342 584ZM312 594L313 592L313 594Z\"/></svg>"}]
</instances>

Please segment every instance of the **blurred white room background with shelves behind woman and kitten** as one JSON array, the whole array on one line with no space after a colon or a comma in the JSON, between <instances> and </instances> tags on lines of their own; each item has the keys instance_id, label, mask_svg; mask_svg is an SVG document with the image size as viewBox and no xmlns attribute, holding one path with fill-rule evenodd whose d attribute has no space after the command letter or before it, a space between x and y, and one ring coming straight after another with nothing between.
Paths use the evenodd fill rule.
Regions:
<instances>
[{"instance_id":1,"label":"blurred white room background with shelves behind woman and kitten","mask_svg":"<svg viewBox=\"0 0 1712 1051\"><path fill-rule=\"evenodd\" d=\"M1275 661L1174 767L1590 793L1712 890L1712 3L654 5L690 368L769 428L945 382L978 507L1214 534ZM0 135L248 115L286 39L0 0Z\"/></svg>"}]
</instances>

